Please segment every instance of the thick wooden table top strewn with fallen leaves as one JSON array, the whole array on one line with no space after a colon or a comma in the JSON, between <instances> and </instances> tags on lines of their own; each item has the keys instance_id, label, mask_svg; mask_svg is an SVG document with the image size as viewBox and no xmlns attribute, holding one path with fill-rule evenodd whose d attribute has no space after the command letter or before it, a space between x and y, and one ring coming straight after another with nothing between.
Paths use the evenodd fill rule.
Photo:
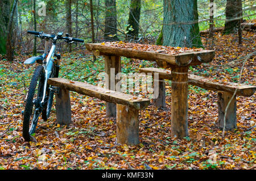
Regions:
<instances>
[{"instance_id":1,"label":"thick wooden table top strewn with fallen leaves","mask_svg":"<svg viewBox=\"0 0 256 181\"><path fill-rule=\"evenodd\" d=\"M165 54L154 51L136 50L132 48L119 48L100 43L85 44L86 49L92 51L95 56L112 55L135 58L139 60L156 61L162 68L171 68L188 65L200 65L212 61L214 50L199 50L178 54Z\"/></svg>"}]
</instances>

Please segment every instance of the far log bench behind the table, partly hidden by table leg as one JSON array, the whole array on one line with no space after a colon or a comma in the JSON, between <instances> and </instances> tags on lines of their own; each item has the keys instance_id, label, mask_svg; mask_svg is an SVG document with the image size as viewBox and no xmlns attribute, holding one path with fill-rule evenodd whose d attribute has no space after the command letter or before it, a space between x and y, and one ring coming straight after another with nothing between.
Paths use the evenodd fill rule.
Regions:
<instances>
[{"instance_id":1,"label":"far log bench behind the table, partly hidden by table leg","mask_svg":"<svg viewBox=\"0 0 256 181\"><path fill-rule=\"evenodd\" d=\"M172 80L171 70L164 70L158 68L143 68L139 69L141 73L154 73L159 75L159 96L154 100L154 105L158 108L165 107L165 83L164 79ZM209 81L208 79L198 76L188 74L188 83L193 86L198 86L207 90L218 91L218 126L220 128L224 127L224 115L226 106L229 100L232 98L234 92L236 95L230 103L227 113L226 113L226 127L225 129L237 128L237 103L236 96L251 96L254 94L256 87L243 85L240 83L228 82L228 83L217 83Z\"/></svg>"}]
</instances>

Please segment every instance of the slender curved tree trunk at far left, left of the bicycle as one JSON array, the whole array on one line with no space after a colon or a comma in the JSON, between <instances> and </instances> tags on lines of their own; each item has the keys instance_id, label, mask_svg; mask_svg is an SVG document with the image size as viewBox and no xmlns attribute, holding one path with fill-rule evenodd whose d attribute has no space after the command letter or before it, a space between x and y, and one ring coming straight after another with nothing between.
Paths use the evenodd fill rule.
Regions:
<instances>
[{"instance_id":1,"label":"slender curved tree trunk at far left, left of the bicycle","mask_svg":"<svg viewBox=\"0 0 256 181\"><path fill-rule=\"evenodd\" d=\"M9 61L13 61L13 57L14 57L14 45L13 45L13 41L12 41L13 33L11 30L13 27L13 17L14 17L14 12L16 9L17 2L18 2L18 0L13 1L13 6L11 7L9 22L8 22L8 26L7 26L6 58Z\"/></svg>"}]
</instances>

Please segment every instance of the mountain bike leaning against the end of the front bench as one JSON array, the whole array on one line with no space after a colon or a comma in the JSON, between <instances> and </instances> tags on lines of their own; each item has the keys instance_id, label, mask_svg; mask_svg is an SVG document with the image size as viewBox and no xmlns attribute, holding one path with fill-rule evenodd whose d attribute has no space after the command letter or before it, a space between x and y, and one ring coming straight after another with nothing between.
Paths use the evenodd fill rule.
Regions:
<instances>
[{"instance_id":1,"label":"mountain bike leaning against the end of the front bench","mask_svg":"<svg viewBox=\"0 0 256 181\"><path fill-rule=\"evenodd\" d=\"M31 134L35 133L40 114L42 113L44 121L48 119L52 108L53 95L58 90L57 87L49 86L47 83L49 78L59 77L61 55L56 53L57 40L64 40L68 44L75 43L75 41L84 43L84 40L69 37L67 33L63 37L63 32L58 32L57 35L37 31L27 31L27 33L46 40L42 55L24 61L24 64L34 64L35 62L41 64L35 68L25 98L22 135L25 141L30 141ZM48 51L49 40L52 40L52 46Z\"/></svg>"}]
</instances>

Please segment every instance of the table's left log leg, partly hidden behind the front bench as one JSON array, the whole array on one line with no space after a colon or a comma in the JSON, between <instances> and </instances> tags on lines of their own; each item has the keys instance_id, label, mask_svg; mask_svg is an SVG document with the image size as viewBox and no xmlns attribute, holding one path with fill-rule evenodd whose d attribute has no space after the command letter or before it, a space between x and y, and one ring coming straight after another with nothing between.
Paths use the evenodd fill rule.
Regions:
<instances>
[{"instance_id":1,"label":"table's left log leg, partly hidden behind the front bench","mask_svg":"<svg viewBox=\"0 0 256 181\"><path fill-rule=\"evenodd\" d=\"M115 75L121 72L121 58L119 56L104 56L105 73L108 75L105 78L106 89L115 91ZM106 103L106 117L116 117L117 110L115 103Z\"/></svg>"}]
</instances>

